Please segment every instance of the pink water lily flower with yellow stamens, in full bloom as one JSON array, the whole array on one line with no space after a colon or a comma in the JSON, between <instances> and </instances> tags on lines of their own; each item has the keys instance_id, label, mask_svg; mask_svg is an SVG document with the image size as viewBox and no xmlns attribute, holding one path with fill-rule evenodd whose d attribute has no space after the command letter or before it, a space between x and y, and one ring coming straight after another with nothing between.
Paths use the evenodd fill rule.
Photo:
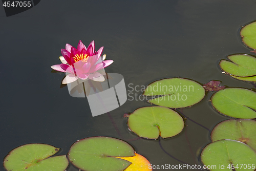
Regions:
<instances>
[{"instance_id":1,"label":"pink water lily flower with yellow stamens, in full bloom","mask_svg":"<svg viewBox=\"0 0 256 171\"><path fill-rule=\"evenodd\" d=\"M108 67L113 60L105 60L97 62L102 53L103 47L97 52L94 51L94 41L90 43L88 48L79 40L77 49L67 44L66 49L61 49L61 64L51 66L52 69L60 72L68 72L69 75L63 79L62 83L71 83L78 78L86 80L87 78L94 81L104 81L103 75L99 70ZM97 72L98 71L98 72Z\"/></svg>"}]
</instances>

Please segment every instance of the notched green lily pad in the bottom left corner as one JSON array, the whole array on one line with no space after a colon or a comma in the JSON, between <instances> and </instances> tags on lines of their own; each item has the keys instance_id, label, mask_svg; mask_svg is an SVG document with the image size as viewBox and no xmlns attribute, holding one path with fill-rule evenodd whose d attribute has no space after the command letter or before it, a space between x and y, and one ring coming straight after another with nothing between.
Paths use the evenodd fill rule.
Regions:
<instances>
[{"instance_id":1,"label":"notched green lily pad in the bottom left corner","mask_svg":"<svg viewBox=\"0 0 256 171\"><path fill-rule=\"evenodd\" d=\"M59 148L48 144L22 145L13 149L6 156L4 159L4 167L7 170L19 171L63 171L69 165L66 156L50 157L58 151Z\"/></svg>"}]
</instances>

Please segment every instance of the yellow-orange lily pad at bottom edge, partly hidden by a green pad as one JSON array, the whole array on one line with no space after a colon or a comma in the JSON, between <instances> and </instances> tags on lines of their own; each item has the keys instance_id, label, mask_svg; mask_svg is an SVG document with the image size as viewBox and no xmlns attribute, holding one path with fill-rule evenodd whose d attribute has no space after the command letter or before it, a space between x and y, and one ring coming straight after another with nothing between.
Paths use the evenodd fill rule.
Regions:
<instances>
[{"instance_id":1,"label":"yellow-orange lily pad at bottom edge, partly hidden by a green pad","mask_svg":"<svg viewBox=\"0 0 256 171\"><path fill-rule=\"evenodd\" d=\"M134 171L134 170L137 170L137 171L151 171L152 170L152 168L150 169L148 167L150 162L144 156L141 156L137 153L135 153L135 156L133 156L133 157L118 157L118 158L130 161L132 163L124 171Z\"/></svg>"}]
</instances>

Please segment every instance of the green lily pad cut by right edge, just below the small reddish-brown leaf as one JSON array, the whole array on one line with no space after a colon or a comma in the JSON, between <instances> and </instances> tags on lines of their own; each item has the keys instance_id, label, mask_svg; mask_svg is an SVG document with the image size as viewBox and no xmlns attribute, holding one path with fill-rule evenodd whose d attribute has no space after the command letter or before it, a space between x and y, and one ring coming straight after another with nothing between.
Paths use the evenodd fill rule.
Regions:
<instances>
[{"instance_id":1,"label":"green lily pad cut by right edge, just below the small reddish-brown leaf","mask_svg":"<svg viewBox=\"0 0 256 171\"><path fill-rule=\"evenodd\" d=\"M224 115L234 118L256 118L256 93L247 89L228 88L211 97L211 104Z\"/></svg>"}]
</instances>

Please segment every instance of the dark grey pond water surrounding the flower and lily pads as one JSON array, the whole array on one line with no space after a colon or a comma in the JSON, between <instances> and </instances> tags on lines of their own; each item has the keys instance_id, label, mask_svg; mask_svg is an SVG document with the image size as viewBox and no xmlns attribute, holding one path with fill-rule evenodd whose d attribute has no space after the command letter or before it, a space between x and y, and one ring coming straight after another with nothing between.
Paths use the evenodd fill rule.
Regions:
<instances>
[{"instance_id":1,"label":"dark grey pond water surrounding the flower and lily pads","mask_svg":"<svg viewBox=\"0 0 256 171\"><path fill-rule=\"evenodd\" d=\"M127 90L129 84L146 86L170 77L253 88L222 74L218 62L234 53L251 54L238 32L256 19L255 1L41 1L10 17L0 9L1 159L26 143L51 144L65 155L76 140L109 136L127 140L153 165L195 165L200 164L198 151L210 142L207 129L229 119L212 109L213 93L208 93L180 110L207 129L186 120L178 136L160 139L162 148L159 140L131 141L137 136L127 129L123 114L150 104L128 97L110 112L117 129L108 114L92 117L86 98L59 89L64 74L51 73L66 43L77 46L82 40L88 46L95 40L96 49L104 46L103 54L114 60L105 71L122 74Z\"/></svg>"}]
</instances>

